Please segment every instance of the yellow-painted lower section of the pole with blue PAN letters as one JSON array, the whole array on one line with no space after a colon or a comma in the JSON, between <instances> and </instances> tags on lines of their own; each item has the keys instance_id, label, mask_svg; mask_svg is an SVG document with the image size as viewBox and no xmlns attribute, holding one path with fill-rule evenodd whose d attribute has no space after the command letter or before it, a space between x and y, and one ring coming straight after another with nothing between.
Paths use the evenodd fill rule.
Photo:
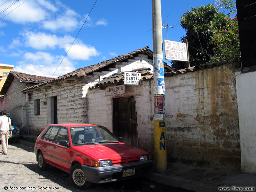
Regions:
<instances>
[{"instance_id":1,"label":"yellow-painted lower section of the pole with blue PAN letters","mask_svg":"<svg viewBox=\"0 0 256 192\"><path fill-rule=\"evenodd\" d=\"M155 164L158 172L166 170L166 126L165 119L155 120Z\"/></svg>"}]
</instances>

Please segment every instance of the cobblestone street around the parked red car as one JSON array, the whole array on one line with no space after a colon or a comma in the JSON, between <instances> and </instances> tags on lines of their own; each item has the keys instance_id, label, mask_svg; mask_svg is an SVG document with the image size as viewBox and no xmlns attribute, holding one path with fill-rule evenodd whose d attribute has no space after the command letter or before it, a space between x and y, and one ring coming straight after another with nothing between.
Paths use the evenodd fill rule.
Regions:
<instances>
[{"instance_id":1,"label":"cobblestone street around the parked red car","mask_svg":"<svg viewBox=\"0 0 256 192\"><path fill-rule=\"evenodd\" d=\"M1 149L0 147L0 151ZM8 155L0 154L0 167L0 191L82 191L72 186L69 174L55 167L49 166L47 171L39 170L33 147L10 143ZM150 185L154 185L154 189L150 188ZM86 192L157 192L170 189L173 188L153 181L133 179L93 184Z\"/></svg>"}]
</instances>

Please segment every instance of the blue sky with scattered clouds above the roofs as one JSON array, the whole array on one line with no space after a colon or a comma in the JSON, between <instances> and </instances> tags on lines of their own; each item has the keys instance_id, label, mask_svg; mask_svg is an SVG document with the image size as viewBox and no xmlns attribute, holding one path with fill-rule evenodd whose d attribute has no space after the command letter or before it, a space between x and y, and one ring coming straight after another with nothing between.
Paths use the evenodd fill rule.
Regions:
<instances>
[{"instance_id":1,"label":"blue sky with scattered clouds above the roofs","mask_svg":"<svg viewBox=\"0 0 256 192\"><path fill-rule=\"evenodd\" d=\"M19 0L2 12L15 2L6 1L0 0L0 63L14 65L14 71L48 77L60 64L95 3ZM162 0L163 24L174 26L168 29L168 39L180 41L185 34L179 23L182 13L208 3L215 0ZM98 0L53 77L144 46L153 50L151 29L151 0ZM166 32L163 28L163 39L167 39Z\"/></svg>"}]
</instances>

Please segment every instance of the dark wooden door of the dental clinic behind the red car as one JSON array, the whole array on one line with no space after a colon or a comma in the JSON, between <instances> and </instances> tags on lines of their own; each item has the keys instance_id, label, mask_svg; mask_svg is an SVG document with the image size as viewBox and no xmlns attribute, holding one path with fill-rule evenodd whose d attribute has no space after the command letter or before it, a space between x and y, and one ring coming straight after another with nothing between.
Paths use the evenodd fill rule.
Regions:
<instances>
[{"instance_id":1,"label":"dark wooden door of the dental clinic behind the red car","mask_svg":"<svg viewBox=\"0 0 256 192\"><path fill-rule=\"evenodd\" d=\"M125 144L138 147L134 97L113 98L113 133Z\"/></svg>"}]
</instances>

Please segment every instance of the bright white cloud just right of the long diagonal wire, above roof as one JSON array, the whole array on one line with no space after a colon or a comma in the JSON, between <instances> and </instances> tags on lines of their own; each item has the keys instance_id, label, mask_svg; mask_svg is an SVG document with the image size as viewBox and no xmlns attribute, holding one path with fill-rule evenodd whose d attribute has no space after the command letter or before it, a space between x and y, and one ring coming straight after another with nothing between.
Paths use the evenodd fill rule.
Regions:
<instances>
[{"instance_id":1,"label":"bright white cloud just right of the long diagonal wire, above roof","mask_svg":"<svg viewBox=\"0 0 256 192\"><path fill-rule=\"evenodd\" d=\"M70 45L65 47L66 52L68 51ZM74 44L69 49L68 57L76 60L89 60L90 57L98 56L99 52L94 48L94 46L85 44Z\"/></svg>"}]
</instances>

